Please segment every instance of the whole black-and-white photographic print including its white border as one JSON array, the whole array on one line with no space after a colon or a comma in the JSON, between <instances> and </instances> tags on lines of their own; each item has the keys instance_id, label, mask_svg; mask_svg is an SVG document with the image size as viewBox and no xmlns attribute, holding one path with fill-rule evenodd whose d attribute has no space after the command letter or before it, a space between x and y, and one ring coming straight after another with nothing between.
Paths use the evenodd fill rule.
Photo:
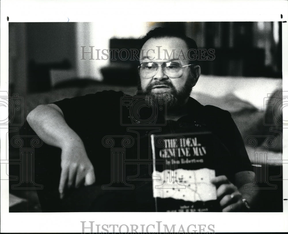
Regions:
<instances>
[{"instance_id":1,"label":"whole black-and-white photographic print including its white border","mask_svg":"<svg viewBox=\"0 0 288 234\"><path fill-rule=\"evenodd\" d=\"M115 8L103 20L1 13L2 220L67 215L60 232L77 233L258 232L285 220L287 11L117 20Z\"/></svg>"}]
</instances>

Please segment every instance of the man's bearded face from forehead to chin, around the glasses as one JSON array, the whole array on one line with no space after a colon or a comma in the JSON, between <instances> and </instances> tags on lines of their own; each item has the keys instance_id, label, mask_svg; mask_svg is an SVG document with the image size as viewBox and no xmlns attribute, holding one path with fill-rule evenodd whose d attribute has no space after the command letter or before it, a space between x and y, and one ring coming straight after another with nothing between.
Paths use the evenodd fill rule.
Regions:
<instances>
[{"instance_id":1,"label":"man's bearded face from forehead to chin, around the glasses","mask_svg":"<svg viewBox=\"0 0 288 234\"><path fill-rule=\"evenodd\" d=\"M173 61L179 63L180 66L185 66L189 64L189 60L179 55L186 56L187 51L188 47L181 38L150 38L142 47L140 64L155 62L161 65L163 62ZM179 77L169 77L169 74L163 72L161 66L158 66L156 73L151 77L139 72L141 89L150 91L153 96L166 97L167 106L170 108L183 105L190 95L194 82L191 66L182 67L181 70Z\"/></svg>"}]
</instances>

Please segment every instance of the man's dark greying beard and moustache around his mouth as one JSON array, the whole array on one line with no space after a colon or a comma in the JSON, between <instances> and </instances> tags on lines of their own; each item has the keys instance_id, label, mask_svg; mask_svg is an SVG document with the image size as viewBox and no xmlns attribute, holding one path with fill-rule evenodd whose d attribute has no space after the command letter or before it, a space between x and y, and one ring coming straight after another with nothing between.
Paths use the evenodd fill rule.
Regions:
<instances>
[{"instance_id":1,"label":"man's dark greying beard and moustache around his mouth","mask_svg":"<svg viewBox=\"0 0 288 234\"><path fill-rule=\"evenodd\" d=\"M166 99L167 109L175 109L185 105L187 98L190 96L192 91L192 76L187 78L185 85L177 91L175 86L169 80L157 80L156 82L150 83L145 90L142 89L141 84L138 86L138 90L151 92L151 95L154 97L163 97ZM166 92L154 93L152 88L155 85L165 85L169 87L169 90ZM149 94L148 94L149 95ZM147 101L151 100L151 96L147 96Z\"/></svg>"}]
</instances>

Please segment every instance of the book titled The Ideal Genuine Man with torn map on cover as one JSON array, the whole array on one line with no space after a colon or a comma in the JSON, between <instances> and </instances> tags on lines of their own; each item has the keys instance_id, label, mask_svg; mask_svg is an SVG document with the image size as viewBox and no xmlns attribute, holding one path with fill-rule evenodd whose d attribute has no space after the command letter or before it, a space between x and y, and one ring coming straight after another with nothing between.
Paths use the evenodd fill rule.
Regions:
<instances>
[{"instance_id":1,"label":"book titled The Ideal Genuine Man with torn map on cover","mask_svg":"<svg viewBox=\"0 0 288 234\"><path fill-rule=\"evenodd\" d=\"M217 212L211 132L151 135L157 212Z\"/></svg>"}]
</instances>

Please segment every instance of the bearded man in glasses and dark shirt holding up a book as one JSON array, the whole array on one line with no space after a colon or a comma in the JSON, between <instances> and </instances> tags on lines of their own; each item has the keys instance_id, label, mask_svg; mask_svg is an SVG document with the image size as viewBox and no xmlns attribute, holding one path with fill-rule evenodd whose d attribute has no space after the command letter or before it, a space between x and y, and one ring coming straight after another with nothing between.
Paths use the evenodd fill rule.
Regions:
<instances>
[{"instance_id":1,"label":"bearded man in glasses and dark shirt holding up a book","mask_svg":"<svg viewBox=\"0 0 288 234\"><path fill-rule=\"evenodd\" d=\"M106 185L112 190L102 198L95 198L94 208L89 211L155 211L151 133L211 131L219 143L216 177L211 183L216 185L221 210L243 211L253 206L256 190L245 186L254 184L255 174L230 113L203 106L190 97L200 76L196 51L195 41L181 32L155 28L143 37L139 92L135 96L103 91L40 105L29 113L27 121L35 133L47 145L61 149L56 163L51 160L53 156L50 159L38 156L42 157L39 165L49 173L53 173L53 165L59 171L52 183L55 185L60 177L60 198L65 199L69 189L82 184ZM132 105L135 100L145 104L137 109ZM161 100L165 105L159 107ZM155 103L156 113L149 107ZM107 136L120 141L109 145L103 140ZM123 148L121 139L125 136L131 136L134 144L126 145L124 158L128 163L124 166L120 162L122 166L117 173L122 179L116 183L115 161L110 155L112 149ZM52 179L41 182L49 180ZM117 184L114 190L113 184Z\"/></svg>"}]
</instances>

